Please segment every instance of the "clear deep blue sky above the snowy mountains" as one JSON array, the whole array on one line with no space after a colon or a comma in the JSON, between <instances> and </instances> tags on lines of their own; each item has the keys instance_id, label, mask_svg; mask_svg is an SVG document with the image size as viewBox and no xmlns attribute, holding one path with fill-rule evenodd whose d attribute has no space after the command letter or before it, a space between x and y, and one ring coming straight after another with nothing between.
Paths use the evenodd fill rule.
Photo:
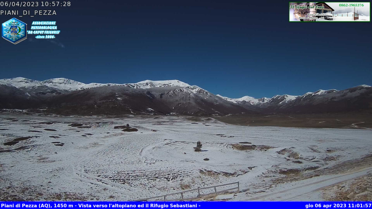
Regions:
<instances>
[{"instance_id":1,"label":"clear deep blue sky above the snowy mountains","mask_svg":"<svg viewBox=\"0 0 372 209\"><path fill-rule=\"evenodd\" d=\"M177 79L232 98L372 85L371 22L288 22L286 1L71 1L56 12L21 19L57 21L54 42L0 40L0 78Z\"/></svg>"}]
</instances>

